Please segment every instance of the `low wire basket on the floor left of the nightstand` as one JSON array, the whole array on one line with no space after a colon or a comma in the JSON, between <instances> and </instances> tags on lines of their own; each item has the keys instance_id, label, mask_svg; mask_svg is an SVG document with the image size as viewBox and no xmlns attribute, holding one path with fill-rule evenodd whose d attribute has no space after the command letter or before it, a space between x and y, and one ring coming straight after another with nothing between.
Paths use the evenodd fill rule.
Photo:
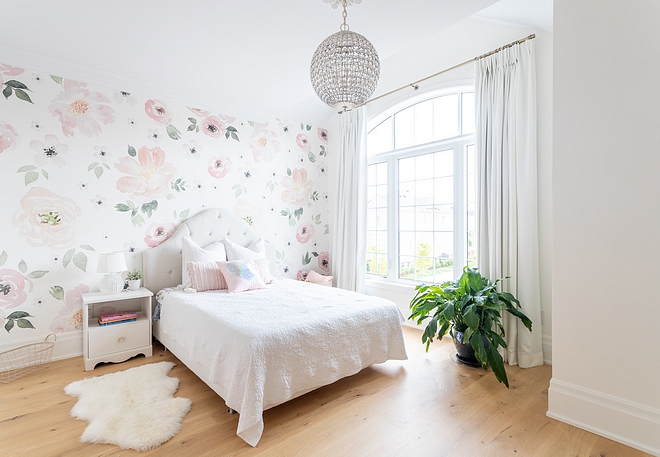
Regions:
<instances>
[{"instance_id":1,"label":"low wire basket on the floor left of the nightstand","mask_svg":"<svg viewBox=\"0 0 660 457\"><path fill-rule=\"evenodd\" d=\"M53 341L48 341L51 336ZM0 352L0 382L7 384L14 379L48 368L53 357L55 341L57 336L51 333L43 343L26 344Z\"/></svg>"}]
</instances>

